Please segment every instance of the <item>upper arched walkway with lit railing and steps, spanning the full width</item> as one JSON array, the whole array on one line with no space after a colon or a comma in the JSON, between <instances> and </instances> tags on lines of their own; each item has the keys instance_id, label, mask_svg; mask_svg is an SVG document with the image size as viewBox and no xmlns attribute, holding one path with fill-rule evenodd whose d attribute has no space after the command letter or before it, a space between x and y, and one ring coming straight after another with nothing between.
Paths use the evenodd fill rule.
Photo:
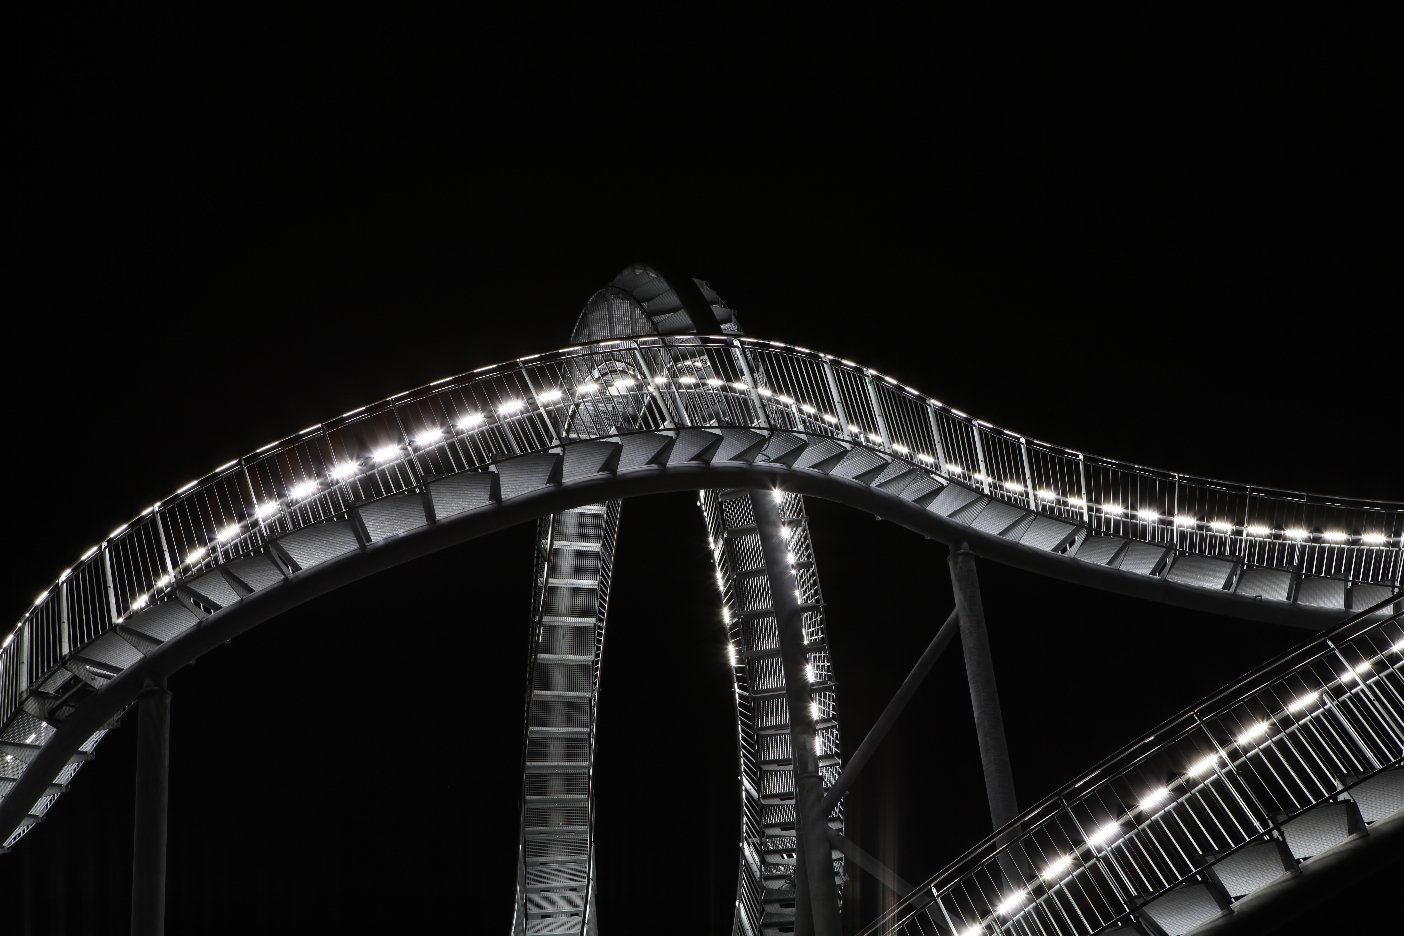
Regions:
<instances>
[{"instance_id":1,"label":"upper arched walkway with lit railing and steps, spanning the full width","mask_svg":"<svg viewBox=\"0 0 1404 936\"><path fill-rule=\"evenodd\" d=\"M774 342L601 341L345 414L114 530L0 647L0 834L13 845L42 817L146 675L285 608L559 511L755 487L1043 574L1297 626L1400 581L1394 504L1087 456Z\"/></svg>"}]
</instances>

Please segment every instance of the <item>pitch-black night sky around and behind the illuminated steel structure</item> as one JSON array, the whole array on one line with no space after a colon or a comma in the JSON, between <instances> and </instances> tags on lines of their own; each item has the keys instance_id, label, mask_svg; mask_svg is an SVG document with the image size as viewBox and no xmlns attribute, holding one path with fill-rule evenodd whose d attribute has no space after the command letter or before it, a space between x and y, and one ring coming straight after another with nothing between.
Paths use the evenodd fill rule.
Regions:
<instances>
[{"instance_id":1,"label":"pitch-black night sky around and behind the illuminated steel structure","mask_svg":"<svg viewBox=\"0 0 1404 936\"><path fill-rule=\"evenodd\" d=\"M636 260L709 279L748 334L1031 436L1404 498L1397 101L1351 39L347 18L358 38L35 34L6 187L7 620L239 453L564 345ZM730 932L734 726L694 501L623 515L605 933ZM952 606L946 551L810 509L851 751ZM385 573L173 676L168 932L505 930L529 540ZM1304 637L980 577L1021 803ZM133 724L0 859L4 932L125 932ZM959 653L848 808L913 881L988 832ZM885 897L851 887L856 926ZM1367 923L1375 894L1300 926Z\"/></svg>"}]
</instances>

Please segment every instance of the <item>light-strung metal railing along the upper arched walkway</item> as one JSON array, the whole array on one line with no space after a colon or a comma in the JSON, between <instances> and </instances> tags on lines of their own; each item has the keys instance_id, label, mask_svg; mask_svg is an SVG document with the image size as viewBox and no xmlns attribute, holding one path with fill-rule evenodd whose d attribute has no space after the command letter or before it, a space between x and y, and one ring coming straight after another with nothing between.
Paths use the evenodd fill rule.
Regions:
<instances>
[{"instance_id":1,"label":"light-strung metal railing along the upper arched walkway","mask_svg":"<svg viewBox=\"0 0 1404 936\"><path fill-rule=\"evenodd\" d=\"M861 443L1094 533L1297 578L1334 577L1342 594L1400 584L1398 504L1099 459L980 422L849 361L776 342L602 341L354 410L229 462L147 508L65 571L4 637L0 724L11 731L31 688L80 647L170 598L181 581L261 551L271 539L344 516L354 504L564 439L701 425ZM52 728L35 721L34 742L44 744Z\"/></svg>"}]
</instances>

